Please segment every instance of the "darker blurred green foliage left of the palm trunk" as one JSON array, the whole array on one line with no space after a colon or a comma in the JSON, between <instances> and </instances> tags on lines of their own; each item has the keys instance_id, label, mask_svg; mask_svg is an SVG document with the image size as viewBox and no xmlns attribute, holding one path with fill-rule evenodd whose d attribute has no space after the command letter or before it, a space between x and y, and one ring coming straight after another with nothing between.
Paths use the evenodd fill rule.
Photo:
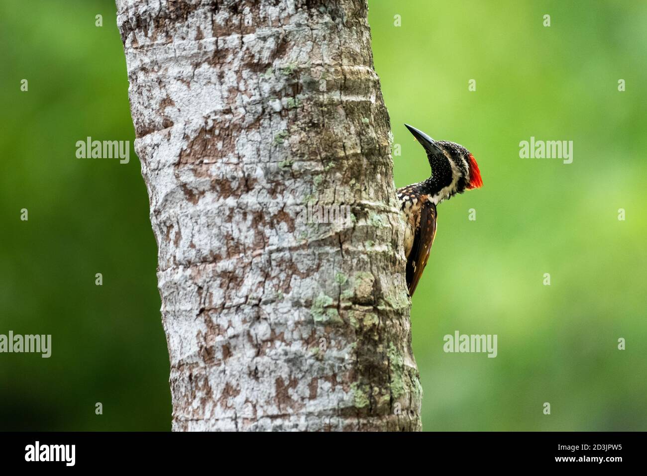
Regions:
<instances>
[{"instance_id":1,"label":"darker blurred green foliage left of the palm trunk","mask_svg":"<svg viewBox=\"0 0 647 476\"><path fill-rule=\"evenodd\" d=\"M0 334L52 334L50 358L0 354L2 430L170 429L157 247L115 15L111 0L0 5L0 44L11 45L0 74ZM129 164L76 158L87 136L129 140Z\"/></svg>"}]
</instances>

